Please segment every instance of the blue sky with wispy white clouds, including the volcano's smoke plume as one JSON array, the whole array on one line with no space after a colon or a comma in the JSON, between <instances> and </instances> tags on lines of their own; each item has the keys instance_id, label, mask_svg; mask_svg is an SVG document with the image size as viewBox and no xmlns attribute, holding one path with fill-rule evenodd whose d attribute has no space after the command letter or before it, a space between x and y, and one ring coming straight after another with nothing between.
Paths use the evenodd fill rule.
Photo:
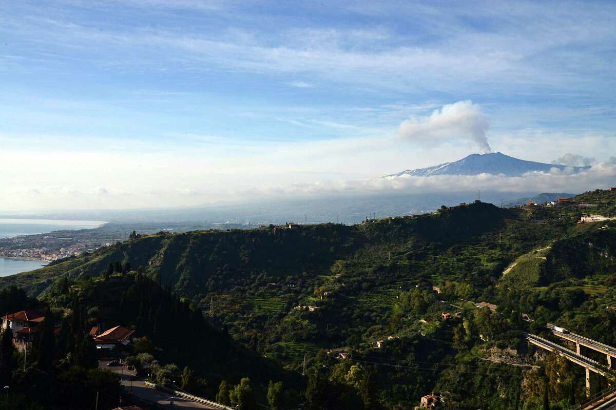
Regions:
<instances>
[{"instance_id":1,"label":"blue sky with wispy white clouds, including the volcano's smoke plume","mask_svg":"<svg viewBox=\"0 0 616 410\"><path fill-rule=\"evenodd\" d=\"M604 187L615 17L613 1L4 2L0 210L455 188L378 177L488 151L595 165L488 188Z\"/></svg>"}]
</instances>

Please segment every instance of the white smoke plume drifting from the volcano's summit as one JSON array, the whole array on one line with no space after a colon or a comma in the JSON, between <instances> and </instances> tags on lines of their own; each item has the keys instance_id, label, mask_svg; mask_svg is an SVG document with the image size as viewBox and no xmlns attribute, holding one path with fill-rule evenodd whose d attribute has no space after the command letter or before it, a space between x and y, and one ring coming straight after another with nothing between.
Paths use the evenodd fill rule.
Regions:
<instances>
[{"instance_id":1,"label":"white smoke plume drifting from the volcano's summit","mask_svg":"<svg viewBox=\"0 0 616 410\"><path fill-rule=\"evenodd\" d=\"M468 140L482 153L492 152L485 132L488 120L477 104L471 100L445 104L430 116L416 116L400 124L399 135L418 143L442 143Z\"/></svg>"}]
</instances>

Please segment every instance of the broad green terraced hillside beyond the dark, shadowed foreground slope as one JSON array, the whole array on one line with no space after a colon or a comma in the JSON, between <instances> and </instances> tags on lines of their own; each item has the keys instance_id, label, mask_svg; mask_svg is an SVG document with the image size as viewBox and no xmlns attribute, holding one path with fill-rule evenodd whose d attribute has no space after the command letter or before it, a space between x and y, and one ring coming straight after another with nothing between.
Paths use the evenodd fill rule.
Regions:
<instances>
[{"instance_id":1,"label":"broad green terraced hillside beyond the dark, shadowed foreground slope","mask_svg":"<svg viewBox=\"0 0 616 410\"><path fill-rule=\"evenodd\" d=\"M554 208L475 202L354 226L144 235L2 278L0 286L18 283L30 294L57 298L64 278L88 281L110 263L128 262L203 310L209 325L227 329L238 346L295 374L306 358L309 385L310 374L334 383L342 380L336 374L360 366L374 389L368 390L379 392L365 396L364 408L373 408L371 400L405 408L434 390L450 392L460 408L515 408L516 395L506 392L535 400L524 381L532 375L492 361L503 349L514 352L514 363L535 360L515 353L522 329L515 312L572 329L588 321L586 336L616 341L616 334L599 331L601 321L612 320L607 310L589 307L612 300L606 284L616 281L616 221L577 224L580 203L609 207L614 195L593 191ZM104 286L119 286L114 280ZM126 289L115 294L125 295L120 304L129 297ZM468 300L498 304L500 315L485 317ZM99 303L100 297L88 302ZM442 320L442 313L456 311L460 318ZM575 320L582 315L584 322ZM336 359L340 352L352 353L353 361Z\"/></svg>"}]
</instances>

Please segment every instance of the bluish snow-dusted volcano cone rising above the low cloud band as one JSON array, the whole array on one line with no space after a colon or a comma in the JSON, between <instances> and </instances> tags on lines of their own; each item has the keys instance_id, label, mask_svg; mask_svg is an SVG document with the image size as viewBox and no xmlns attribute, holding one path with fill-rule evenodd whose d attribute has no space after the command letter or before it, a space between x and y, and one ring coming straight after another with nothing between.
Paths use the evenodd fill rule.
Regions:
<instances>
[{"instance_id":1,"label":"bluish snow-dusted volcano cone rising above the low cloud band","mask_svg":"<svg viewBox=\"0 0 616 410\"><path fill-rule=\"evenodd\" d=\"M415 170L405 170L399 173L386 175L384 178L392 176L432 176L432 175L479 175L482 173L505 176L522 176L527 172L543 171L548 172L551 168L564 170L567 165L544 164L543 162L526 161L510 157L501 152L490 154L471 154L455 162L445 162L444 164L434 165L434 167L417 168ZM579 172L588 167L572 167L573 172Z\"/></svg>"}]
</instances>

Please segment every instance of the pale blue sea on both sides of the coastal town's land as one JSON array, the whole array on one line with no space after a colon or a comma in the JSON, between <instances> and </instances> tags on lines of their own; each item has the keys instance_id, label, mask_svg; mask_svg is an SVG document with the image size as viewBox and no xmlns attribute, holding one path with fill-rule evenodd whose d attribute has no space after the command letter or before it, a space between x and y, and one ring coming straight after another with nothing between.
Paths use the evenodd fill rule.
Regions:
<instances>
[{"instance_id":1,"label":"pale blue sea on both sides of the coastal town's land","mask_svg":"<svg viewBox=\"0 0 616 410\"><path fill-rule=\"evenodd\" d=\"M0 238L12 238L18 235L46 234L65 229L92 229L99 227L102 221L60 221L55 219L7 219L0 218ZM28 272L45 266L45 261L32 259L0 257L0 276Z\"/></svg>"}]
</instances>

